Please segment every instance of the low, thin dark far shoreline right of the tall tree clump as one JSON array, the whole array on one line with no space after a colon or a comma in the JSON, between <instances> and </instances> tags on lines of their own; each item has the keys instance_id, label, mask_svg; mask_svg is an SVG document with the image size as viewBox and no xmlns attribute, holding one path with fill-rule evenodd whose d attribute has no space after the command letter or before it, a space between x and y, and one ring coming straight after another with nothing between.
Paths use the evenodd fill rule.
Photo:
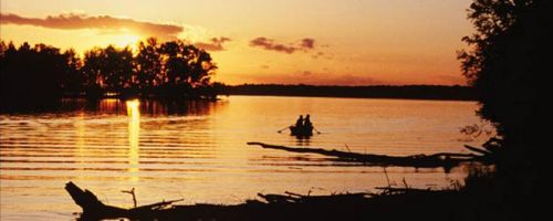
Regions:
<instances>
[{"instance_id":1,"label":"low, thin dark far shoreline right of the tall tree clump","mask_svg":"<svg viewBox=\"0 0 553 221\"><path fill-rule=\"evenodd\" d=\"M321 97L371 97L407 99L476 99L468 86L406 85L406 86L314 86L282 84L243 84L226 86L229 95L321 96Z\"/></svg>"}]
</instances>

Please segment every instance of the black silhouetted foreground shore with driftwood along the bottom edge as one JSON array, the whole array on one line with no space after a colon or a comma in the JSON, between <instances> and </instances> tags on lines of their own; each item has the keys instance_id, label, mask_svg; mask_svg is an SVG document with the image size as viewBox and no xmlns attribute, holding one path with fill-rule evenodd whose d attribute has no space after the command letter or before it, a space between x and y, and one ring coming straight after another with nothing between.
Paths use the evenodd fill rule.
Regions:
<instances>
[{"instance_id":1,"label":"black silhouetted foreground shore with driftwood along the bottom edge","mask_svg":"<svg viewBox=\"0 0 553 221\"><path fill-rule=\"evenodd\" d=\"M65 189L83 209L81 220L533 220L545 214L544 207L532 207L535 202L512 203L512 196L501 193L491 173L477 172L463 187L446 190L405 186L380 188L378 193L259 193L259 199L232 206L163 201L134 209L106 206L73 182Z\"/></svg>"}]
</instances>

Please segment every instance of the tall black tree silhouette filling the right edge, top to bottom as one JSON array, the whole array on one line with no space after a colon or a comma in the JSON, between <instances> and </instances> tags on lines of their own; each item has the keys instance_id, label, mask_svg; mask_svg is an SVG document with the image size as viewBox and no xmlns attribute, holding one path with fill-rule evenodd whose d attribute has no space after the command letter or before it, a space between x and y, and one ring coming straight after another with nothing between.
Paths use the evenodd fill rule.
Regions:
<instances>
[{"instance_id":1,"label":"tall black tree silhouette filling the right edge, top to bottom","mask_svg":"<svg viewBox=\"0 0 553 221\"><path fill-rule=\"evenodd\" d=\"M459 52L478 113L501 136L484 146L498 158L497 198L504 212L524 219L550 210L541 202L551 196L551 12L547 0L474 0L468 18L477 33Z\"/></svg>"}]
</instances>

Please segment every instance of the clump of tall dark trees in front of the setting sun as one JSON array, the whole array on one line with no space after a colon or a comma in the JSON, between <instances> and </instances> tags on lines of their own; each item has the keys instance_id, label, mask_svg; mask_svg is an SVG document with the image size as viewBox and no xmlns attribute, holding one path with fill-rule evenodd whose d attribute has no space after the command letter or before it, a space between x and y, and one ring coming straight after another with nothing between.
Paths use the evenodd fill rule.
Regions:
<instances>
[{"instance_id":1,"label":"clump of tall dark trees in front of the setting sun","mask_svg":"<svg viewBox=\"0 0 553 221\"><path fill-rule=\"evenodd\" d=\"M215 96L217 65L209 53L182 41L156 39L131 48L94 48L80 57L73 50L0 41L2 106L41 106L67 96Z\"/></svg>"}]
</instances>

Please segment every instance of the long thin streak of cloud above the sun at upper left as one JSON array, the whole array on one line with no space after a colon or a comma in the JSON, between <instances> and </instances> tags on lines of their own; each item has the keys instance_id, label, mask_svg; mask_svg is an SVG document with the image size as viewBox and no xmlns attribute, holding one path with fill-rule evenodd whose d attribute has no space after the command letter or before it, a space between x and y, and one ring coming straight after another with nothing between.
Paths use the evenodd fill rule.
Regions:
<instances>
[{"instance_id":1,"label":"long thin streak of cloud above the sun at upper left","mask_svg":"<svg viewBox=\"0 0 553 221\"><path fill-rule=\"evenodd\" d=\"M161 24L109 15L88 17L86 14L62 13L45 19L25 18L12 13L0 14L1 24L34 25L60 30L94 29L102 33L132 31L145 36L175 39L184 28L175 24Z\"/></svg>"}]
</instances>

